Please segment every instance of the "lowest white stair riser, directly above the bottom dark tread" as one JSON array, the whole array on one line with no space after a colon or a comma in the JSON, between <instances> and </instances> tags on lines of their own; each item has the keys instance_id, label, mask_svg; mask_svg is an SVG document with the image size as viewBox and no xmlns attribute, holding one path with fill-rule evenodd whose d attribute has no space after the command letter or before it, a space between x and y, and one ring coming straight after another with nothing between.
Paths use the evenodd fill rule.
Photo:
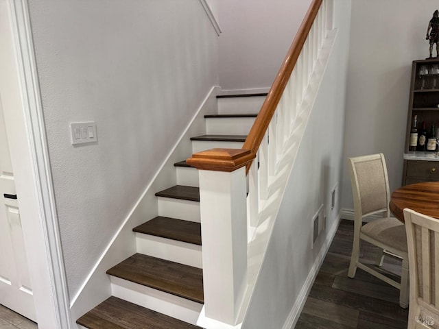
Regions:
<instances>
[{"instance_id":1,"label":"lowest white stair riser, directly above the bottom dark tread","mask_svg":"<svg viewBox=\"0 0 439 329\"><path fill-rule=\"evenodd\" d=\"M110 276L111 293L113 296L150 308L158 313L169 315L189 324L196 324L202 304L165 293L142 284Z\"/></svg>"}]
</instances>

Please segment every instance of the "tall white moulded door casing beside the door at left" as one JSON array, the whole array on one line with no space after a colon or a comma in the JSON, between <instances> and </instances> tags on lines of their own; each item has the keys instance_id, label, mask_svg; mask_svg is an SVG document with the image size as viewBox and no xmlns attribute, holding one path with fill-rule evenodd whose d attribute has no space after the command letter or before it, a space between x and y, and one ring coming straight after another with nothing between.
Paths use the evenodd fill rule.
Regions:
<instances>
[{"instance_id":1,"label":"tall white moulded door casing beside the door at left","mask_svg":"<svg viewBox=\"0 0 439 329\"><path fill-rule=\"evenodd\" d=\"M43 122L43 107L40 99L40 88L34 57L34 45L26 0L9 0L12 14L12 31L16 48L16 61L19 69L21 93L23 101L24 124L26 126L29 158L32 160L32 176L34 182L29 183L35 188L36 204L40 231L43 232L41 247L37 252L47 264L50 278L50 287L45 289L45 314L38 314L38 300L36 300L38 326L41 328L72 328L69 313L69 299L67 281L64 272L62 248L58 230L58 219L54 199L53 184L45 127ZM37 234L35 232L35 234ZM39 247L39 246L35 246ZM38 278L37 278L38 280ZM43 284L43 282L38 282ZM53 310L50 307L54 308ZM52 318L54 317L54 318ZM41 321L40 321L41 320ZM47 321L45 324L43 321Z\"/></svg>"}]
</instances>

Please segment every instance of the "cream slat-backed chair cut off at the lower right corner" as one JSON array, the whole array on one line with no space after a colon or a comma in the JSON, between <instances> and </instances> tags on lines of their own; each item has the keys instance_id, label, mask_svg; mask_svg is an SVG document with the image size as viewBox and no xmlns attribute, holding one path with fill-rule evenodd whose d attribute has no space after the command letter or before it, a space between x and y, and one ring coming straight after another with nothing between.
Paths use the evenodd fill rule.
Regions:
<instances>
[{"instance_id":1,"label":"cream slat-backed chair cut off at the lower right corner","mask_svg":"<svg viewBox=\"0 0 439 329\"><path fill-rule=\"evenodd\" d=\"M410 266L407 329L439 328L439 221L404 209Z\"/></svg>"}]
</instances>

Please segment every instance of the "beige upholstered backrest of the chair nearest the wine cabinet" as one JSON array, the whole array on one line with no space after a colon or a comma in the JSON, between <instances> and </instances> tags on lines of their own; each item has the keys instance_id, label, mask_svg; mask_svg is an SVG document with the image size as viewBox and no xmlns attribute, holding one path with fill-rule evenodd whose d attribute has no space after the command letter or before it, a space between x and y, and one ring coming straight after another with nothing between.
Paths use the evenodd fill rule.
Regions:
<instances>
[{"instance_id":1,"label":"beige upholstered backrest of the chair nearest the wine cabinet","mask_svg":"<svg viewBox=\"0 0 439 329\"><path fill-rule=\"evenodd\" d=\"M355 220L377 212L390 216L389 183L383 154L348 158Z\"/></svg>"}]
</instances>

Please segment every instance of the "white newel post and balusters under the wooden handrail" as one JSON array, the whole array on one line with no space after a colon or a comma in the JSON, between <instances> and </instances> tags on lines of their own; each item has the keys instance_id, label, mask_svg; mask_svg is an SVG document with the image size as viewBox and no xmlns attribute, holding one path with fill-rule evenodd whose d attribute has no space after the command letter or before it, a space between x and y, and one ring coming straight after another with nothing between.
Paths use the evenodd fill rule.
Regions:
<instances>
[{"instance_id":1,"label":"white newel post and balusters under the wooden handrail","mask_svg":"<svg viewBox=\"0 0 439 329\"><path fill-rule=\"evenodd\" d=\"M268 216L265 212L270 207L268 204L268 200L271 200L270 184L276 182L276 175L282 174L282 170L279 170L278 173L278 167L285 167L285 159L288 159L285 154L294 149L294 145L287 145L286 143L287 141L291 143L292 135L303 130L303 120L298 120L298 118L301 118L300 115L304 108L309 108L308 99L305 102L304 97L307 91L310 92L311 90L312 92L312 88L308 90L309 83L318 64L327 30L332 28L332 1L324 0L320 7L316 20L298 56L296 66L278 102L272 121L270 121L268 130L263 136L257 151L258 156L252 162L247 177L242 173L244 169L239 169L240 173L200 171L201 202L205 199L210 204L210 206L201 205L203 265L207 265L207 268L204 267L206 312L204 317L222 321L227 323L228 326L235 326L237 321L245 314L248 306L244 302L241 306L243 309L239 312L237 310L243 297L241 289L244 283L242 281L246 280L246 269L240 266L236 272L234 267L237 265L237 261L238 263L242 262L241 265L250 263L250 261L244 259L247 252L246 247L244 245L233 245L233 241L234 243L237 243L237 241L248 241L250 243L252 239L256 239L257 234L253 236L253 233L261 225L261 214L264 218ZM300 141L301 138L301 136L296 137L294 137L294 144L296 141ZM203 182L203 180L205 181ZM242 180L241 183L239 183L239 180ZM237 188L237 186L241 187ZM247 186L247 188L243 186ZM222 191L217 193L218 189ZM240 193L247 193L246 210L241 208L242 205L237 206L236 204L236 202L240 203L239 199L242 200L242 197L237 197L237 190L241 190ZM230 193L230 195L226 197L226 193ZM211 208L212 205L215 205L213 209ZM244 215L243 211L246 212L246 229L242 227L239 218ZM206 216L206 221L204 221L204 216ZM224 221L224 219L226 220ZM219 223L221 224L219 225ZM247 239L244 239L244 234L247 234ZM214 236L215 239L212 241L216 242L211 245L206 242L206 245L204 245L204 241L209 241L209 236ZM222 243L218 243L218 241L222 241ZM232 247L233 249L230 249ZM225 251L224 248L226 248ZM219 259L218 257L222 259L220 265L217 261L211 261ZM220 279L218 276L220 271L227 272L227 277L231 279L230 282L217 284ZM222 276L222 280L224 280L224 276ZM236 284L235 287L239 287L238 289L230 290L232 287L229 287L228 291L224 291L224 287L234 283ZM248 282L248 284L250 284L250 287L252 286L251 282ZM231 307L224 308L224 304ZM216 325L217 323L215 328L217 328ZM230 327L224 326L224 328Z\"/></svg>"}]
</instances>

